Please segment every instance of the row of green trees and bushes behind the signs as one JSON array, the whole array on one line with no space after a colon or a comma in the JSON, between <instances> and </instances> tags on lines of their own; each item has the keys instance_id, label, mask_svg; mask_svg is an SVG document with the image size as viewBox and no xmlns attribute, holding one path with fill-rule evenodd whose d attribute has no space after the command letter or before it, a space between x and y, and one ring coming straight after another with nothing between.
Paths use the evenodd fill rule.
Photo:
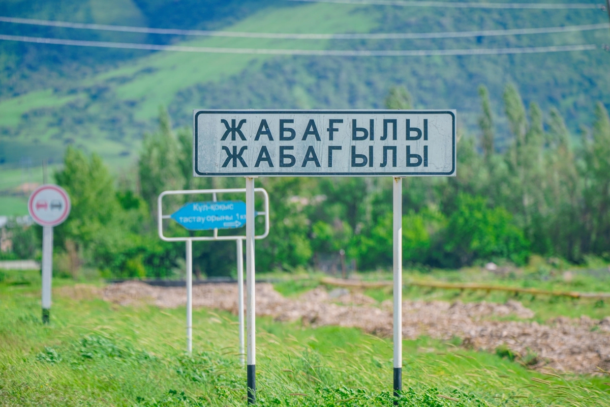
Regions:
<instances>
[{"instance_id":1,"label":"row of green trees and bushes behind the signs","mask_svg":"<svg viewBox=\"0 0 610 407\"><path fill-rule=\"evenodd\" d=\"M610 257L610 118L605 107L597 105L582 147L573 148L556 110L545 114L536 104L526 109L509 86L504 106L514 138L499 151L493 145L493 109L486 109L487 93L480 94L484 137L479 143L462 135L458 176L404 181L404 262L451 268L487 261L522 264L529 253L572 262L589 255ZM66 242L74 242L82 264L107 276L182 272L184 245L156 236L152 214L159 193L243 187L243 178L193 178L191 154L190 130L174 134L162 113L159 131L145 137L138 175L131 177L139 181L121 182L117 192L98 156L68 148L56 179L70 193L73 210L57 228L56 248L66 251ZM163 176L151 176L160 170ZM315 253L340 250L348 261L356 259L360 270L391 267L391 182L390 177L257 179L257 186L269 192L271 206L271 232L256 243L257 271L312 267ZM234 242L201 243L193 250L196 273L234 273Z\"/></svg>"}]
</instances>

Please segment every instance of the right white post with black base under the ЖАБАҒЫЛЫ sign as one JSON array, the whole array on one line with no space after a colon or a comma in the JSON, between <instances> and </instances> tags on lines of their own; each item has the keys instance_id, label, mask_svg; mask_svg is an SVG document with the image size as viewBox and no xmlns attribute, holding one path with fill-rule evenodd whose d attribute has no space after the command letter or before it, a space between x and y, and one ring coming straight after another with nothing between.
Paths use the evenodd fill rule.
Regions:
<instances>
[{"instance_id":1,"label":"right white post with black base under the \u0416\u0410\u0411\u0410\u0492\u042b\u041b\u042b sign","mask_svg":"<svg viewBox=\"0 0 610 407\"><path fill-rule=\"evenodd\" d=\"M393 179L394 404L403 387L403 179Z\"/></svg>"}]
</instances>

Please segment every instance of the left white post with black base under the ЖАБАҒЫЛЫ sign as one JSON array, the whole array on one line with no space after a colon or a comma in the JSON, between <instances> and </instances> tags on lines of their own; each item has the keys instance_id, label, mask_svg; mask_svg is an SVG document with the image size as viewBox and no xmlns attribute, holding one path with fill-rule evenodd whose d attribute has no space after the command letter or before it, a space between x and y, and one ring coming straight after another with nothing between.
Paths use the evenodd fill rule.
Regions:
<instances>
[{"instance_id":1,"label":"left white post with black base under the \u0416\u0410\u0411\u0410\u0492\u042b\u041b\u042b sign","mask_svg":"<svg viewBox=\"0 0 610 407\"><path fill-rule=\"evenodd\" d=\"M254 298L254 178L246 177L246 299L248 325L248 404L256 403L256 322Z\"/></svg>"}]
</instances>

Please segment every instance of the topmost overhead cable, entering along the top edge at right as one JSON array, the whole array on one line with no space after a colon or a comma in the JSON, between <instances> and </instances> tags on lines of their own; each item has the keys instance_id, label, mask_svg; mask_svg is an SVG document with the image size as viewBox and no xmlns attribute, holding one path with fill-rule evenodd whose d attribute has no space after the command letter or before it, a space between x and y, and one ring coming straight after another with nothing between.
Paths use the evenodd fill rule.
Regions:
<instances>
[{"instance_id":1,"label":"topmost overhead cable, entering along the top edge at right","mask_svg":"<svg viewBox=\"0 0 610 407\"><path fill-rule=\"evenodd\" d=\"M605 10L604 4L587 3L487 3L457 1L401 1L401 0L285 0L308 3L336 3L361 5L398 5L401 7L443 7L453 9L599 9Z\"/></svg>"}]
</instances>

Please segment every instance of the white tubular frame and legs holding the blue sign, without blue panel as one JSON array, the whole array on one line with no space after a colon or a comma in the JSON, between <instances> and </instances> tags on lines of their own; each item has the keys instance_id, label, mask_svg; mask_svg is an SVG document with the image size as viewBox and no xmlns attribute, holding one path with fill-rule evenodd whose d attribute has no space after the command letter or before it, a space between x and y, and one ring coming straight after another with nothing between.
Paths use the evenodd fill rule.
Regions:
<instances>
[{"instance_id":1,"label":"white tubular frame and legs holding the blue sign, without blue panel","mask_svg":"<svg viewBox=\"0 0 610 407\"><path fill-rule=\"evenodd\" d=\"M193 189L193 190L175 190L165 191L159 195L157 199L157 226L159 237L165 242L185 242L186 243L186 286L187 286L187 351L193 351L193 241L213 241L213 240L235 240L237 244L237 309L239 309L239 353L242 365L245 362L245 347L244 347L244 321L243 321L243 240L247 240L248 229L254 231L254 216L251 219L247 218L246 211L246 235L230 235L218 236L218 229L213 229L213 236L193 236L193 237L168 237L163 235L163 219L170 219L171 215L163 215L163 196L167 195L200 195L212 194L212 200L216 201L217 193L246 193L246 201L248 201L248 192L246 188L232 189ZM256 212L256 215L265 216L265 232L261 235L253 236L253 239L265 239L269 234L269 194L264 188L254 188L251 191L251 201L254 203L254 193L260 192L264 196L265 211ZM247 208L246 208L247 209ZM250 222L250 223L248 223ZM253 234L253 233L252 233ZM247 242L246 242L247 243ZM247 249L247 248L246 248ZM247 251L247 250L246 250ZM250 279L246 281L251 283ZM254 289L254 287L253 287ZM248 296L249 297L249 296Z\"/></svg>"}]
</instances>

